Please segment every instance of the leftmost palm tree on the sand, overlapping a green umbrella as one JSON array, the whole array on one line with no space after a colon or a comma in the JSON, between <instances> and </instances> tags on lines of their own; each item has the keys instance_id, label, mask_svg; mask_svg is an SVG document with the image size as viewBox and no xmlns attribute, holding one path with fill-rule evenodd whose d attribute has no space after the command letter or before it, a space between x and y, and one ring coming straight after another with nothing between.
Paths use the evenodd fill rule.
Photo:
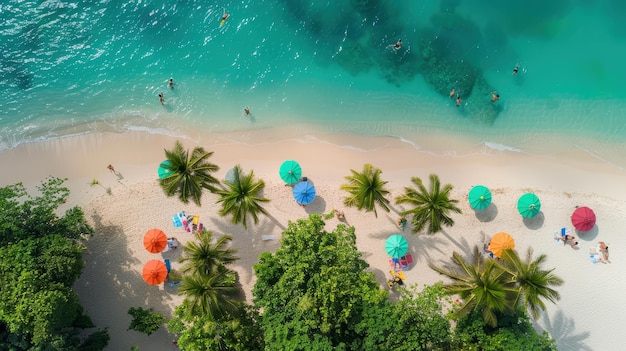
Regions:
<instances>
[{"instance_id":1,"label":"leftmost palm tree on the sand, overlapping a green umbrella","mask_svg":"<svg viewBox=\"0 0 626 351\"><path fill-rule=\"evenodd\" d=\"M165 150L165 157L169 161L168 168L172 173L159 180L163 191L167 196L178 194L178 198L184 204L189 203L189 198L200 206L202 189L216 192L215 185L219 181L211 175L218 171L219 167L208 162L213 152L206 152L204 148L196 147L191 154L183 149L180 141L176 141L172 150Z\"/></svg>"}]
</instances>

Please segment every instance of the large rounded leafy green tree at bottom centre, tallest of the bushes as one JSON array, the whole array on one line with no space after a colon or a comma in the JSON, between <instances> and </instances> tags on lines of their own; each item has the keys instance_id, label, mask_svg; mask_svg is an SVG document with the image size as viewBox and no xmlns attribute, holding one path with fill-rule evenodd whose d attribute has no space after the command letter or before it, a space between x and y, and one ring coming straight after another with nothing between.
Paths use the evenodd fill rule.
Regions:
<instances>
[{"instance_id":1,"label":"large rounded leafy green tree at bottom centre, tallest of the bushes","mask_svg":"<svg viewBox=\"0 0 626 351\"><path fill-rule=\"evenodd\" d=\"M355 329L366 305L387 300L356 249L353 227L324 230L320 215L290 222L281 247L254 266L255 305L263 309L266 348L360 350Z\"/></svg>"}]
</instances>

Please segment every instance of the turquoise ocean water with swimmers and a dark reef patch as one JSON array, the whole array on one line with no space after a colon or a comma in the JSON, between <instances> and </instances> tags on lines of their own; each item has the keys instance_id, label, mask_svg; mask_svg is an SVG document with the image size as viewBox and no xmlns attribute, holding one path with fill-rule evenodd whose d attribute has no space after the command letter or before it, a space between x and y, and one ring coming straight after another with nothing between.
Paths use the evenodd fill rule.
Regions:
<instances>
[{"instance_id":1,"label":"turquoise ocean water with swimmers and a dark reef patch","mask_svg":"<svg viewBox=\"0 0 626 351\"><path fill-rule=\"evenodd\" d=\"M0 149L297 125L626 167L623 0L5 0L0 20Z\"/></svg>"}]
</instances>

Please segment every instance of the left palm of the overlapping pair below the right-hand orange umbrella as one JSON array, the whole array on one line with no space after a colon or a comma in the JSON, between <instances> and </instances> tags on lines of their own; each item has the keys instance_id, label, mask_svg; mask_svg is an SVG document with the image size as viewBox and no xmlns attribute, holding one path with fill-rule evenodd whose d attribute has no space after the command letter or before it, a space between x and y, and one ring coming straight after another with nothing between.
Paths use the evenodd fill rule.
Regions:
<instances>
[{"instance_id":1,"label":"left palm of the overlapping pair below the right-hand orange umbrella","mask_svg":"<svg viewBox=\"0 0 626 351\"><path fill-rule=\"evenodd\" d=\"M478 310L485 323L495 327L499 316L513 314L517 289L506 284L507 273L500 265L494 260L484 260L478 246L474 246L471 262L454 252L452 263L453 267L438 267L432 263L428 266L453 280L444 285L444 291L449 295L458 294L463 300L457 310L459 316Z\"/></svg>"}]
</instances>

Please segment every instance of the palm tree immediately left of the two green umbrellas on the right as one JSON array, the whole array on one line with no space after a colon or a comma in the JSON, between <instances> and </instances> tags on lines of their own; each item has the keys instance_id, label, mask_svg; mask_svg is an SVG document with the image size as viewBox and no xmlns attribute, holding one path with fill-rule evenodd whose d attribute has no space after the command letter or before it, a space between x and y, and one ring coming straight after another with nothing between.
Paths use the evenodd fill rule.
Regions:
<instances>
[{"instance_id":1,"label":"palm tree immediately left of the two green umbrellas on the right","mask_svg":"<svg viewBox=\"0 0 626 351\"><path fill-rule=\"evenodd\" d=\"M446 184L442 189L436 174L430 175L430 189L426 189L418 177L412 177L411 182L417 188L405 187L404 194L396 198L396 203L413 205L412 209L400 212L403 216L413 215L413 233L421 231L426 225L429 234L439 232L442 224L447 227L454 225L449 213L461 213L461 209L455 205L459 200L450 199L452 185Z\"/></svg>"}]
</instances>

